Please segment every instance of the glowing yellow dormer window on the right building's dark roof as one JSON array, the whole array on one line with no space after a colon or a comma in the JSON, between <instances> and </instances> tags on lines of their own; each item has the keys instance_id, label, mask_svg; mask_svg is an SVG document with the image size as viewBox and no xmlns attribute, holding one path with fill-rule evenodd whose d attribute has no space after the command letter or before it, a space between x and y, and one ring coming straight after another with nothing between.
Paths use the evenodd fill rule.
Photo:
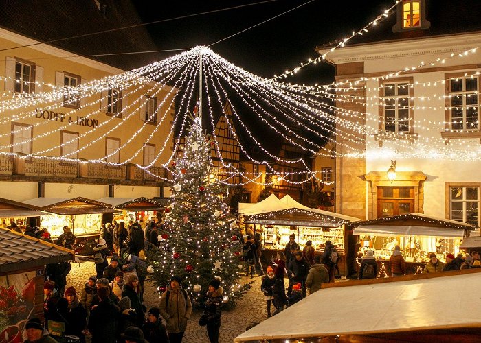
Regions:
<instances>
[{"instance_id":1,"label":"glowing yellow dormer window on the right building's dark roof","mask_svg":"<svg viewBox=\"0 0 481 343\"><path fill-rule=\"evenodd\" d=\"M397 22L392 27L392 32L429 29L431 27L431 23L426 20L426 0L399 1L396 12Z\"/></svg>"}]
</instances>

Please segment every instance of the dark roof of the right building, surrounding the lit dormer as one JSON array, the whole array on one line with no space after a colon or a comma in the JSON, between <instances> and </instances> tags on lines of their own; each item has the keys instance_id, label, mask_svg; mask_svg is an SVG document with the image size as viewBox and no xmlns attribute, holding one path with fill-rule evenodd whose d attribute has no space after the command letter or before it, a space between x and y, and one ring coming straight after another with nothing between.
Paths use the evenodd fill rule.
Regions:
<instances>
[{"instance_id":1,"label":"dark roof of the right building, surrounding the lit dormer","mask_svg":"<svg viewBox=\"0 0 481 343\"><path fill-rule=\"evenodd\" d=\"M398 8L401 7L401 2ZM397 9L396 9L397 11ZM429 29L409 29L393 32L396 25L396 12L388 18L378 21L362 36L356 35L346 43L351 46L385 43L399 40L416 40L435 36L452 36L481 31L481 1L479 0L426 0L426 19L431 23ZM337 45L337 43L335 44ZM316 47L316 50L327 50L331 46Z\"/></svg>"}]
</instances>

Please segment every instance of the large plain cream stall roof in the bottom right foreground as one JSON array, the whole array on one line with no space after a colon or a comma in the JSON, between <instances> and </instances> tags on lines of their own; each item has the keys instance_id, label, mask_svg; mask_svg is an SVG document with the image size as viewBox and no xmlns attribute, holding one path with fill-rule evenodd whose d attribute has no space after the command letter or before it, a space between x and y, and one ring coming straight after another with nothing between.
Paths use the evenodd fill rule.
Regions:
<instances>
[{"instance_id":1,"label":"large plain cream stall roof in the bottom right foreground","mask_svg":"<svg viewBox=\"0 0 481 343\"><path fill-rule=\"evenodd\" d=\"M347 281L309 295L234 342L480 327L481 297L452 292L480 282L481 272L366 285Z\"/></svg>"}]
</instances>

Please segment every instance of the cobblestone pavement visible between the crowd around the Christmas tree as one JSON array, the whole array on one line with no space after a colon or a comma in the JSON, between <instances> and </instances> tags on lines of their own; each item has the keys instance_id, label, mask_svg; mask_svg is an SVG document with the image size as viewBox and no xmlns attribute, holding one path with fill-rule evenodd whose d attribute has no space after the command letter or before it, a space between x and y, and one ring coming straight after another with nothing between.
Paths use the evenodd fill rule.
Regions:
<instances>
[{"instance_id":1,"label":"cobblestone pavement visible between the crowd around the Christmas tree","mask_svg":"<svg viewBox=\"0 0 481 343\"><path fill-rule=\"evenodd\" d=\"M67 287L74 286L80 294L85 287L89 276L95 275L95 265L93 262L71 263L72 268L67 276ZM259 276L251 279L243 276L240 280L242 284L255 281L252 288L245 296L238 300L236 308L222 312L222 324L219 342L232 342L236 336L245 331L251 322L262 322L267 319L266 302L260 292L261 278ZM145 283L144 305L147 308L159 306L159 294L155 294L155 287L150 283ZM273 311L273 307L271 308ZM205 327L199 327L197 322L201 316L200 311L194 311L184 335L184 343L208 343L208 335Z\"/></svg>"}]
</instances>

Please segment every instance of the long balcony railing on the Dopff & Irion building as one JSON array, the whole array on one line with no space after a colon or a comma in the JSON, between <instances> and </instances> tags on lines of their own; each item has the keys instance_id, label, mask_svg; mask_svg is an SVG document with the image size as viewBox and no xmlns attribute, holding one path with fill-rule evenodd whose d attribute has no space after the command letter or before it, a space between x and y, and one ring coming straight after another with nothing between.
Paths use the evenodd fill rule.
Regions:
<instances>
[{"instance_id":1,"label":"long balcony railing on the Dopff & Irion building","mask_svg":"<svg viewBox=\"0 0 481 343\"><path fill-rule=\"evenodd\" d=\"M46 158L25 158L23 154L16 154L16 156L0 155L0 175L161 182L166 172L163 167L150 167L148 171L144 171L132 163L118 167L88 161L65 163Z\"/></svg>"}]
</instances>

